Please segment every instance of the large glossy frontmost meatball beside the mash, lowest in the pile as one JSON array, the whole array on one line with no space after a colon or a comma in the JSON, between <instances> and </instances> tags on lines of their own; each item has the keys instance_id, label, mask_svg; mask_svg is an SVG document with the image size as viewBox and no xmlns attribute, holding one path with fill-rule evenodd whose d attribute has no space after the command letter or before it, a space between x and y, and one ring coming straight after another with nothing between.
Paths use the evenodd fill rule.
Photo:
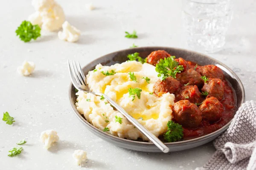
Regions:
<instances>
[{"instance_id":1,"label":"large glossy frontmost meatball beside the mash, lowest in the pile","mask_svg":"<svg viewBox=\"0 0 256 170\"><path fill-rule=\"evenodd\" d=\"M202 113L198 107L188 100L176 102L172 108L174 119L184 127L198 127L202 121Z\"/></svg>"}]
</instances>

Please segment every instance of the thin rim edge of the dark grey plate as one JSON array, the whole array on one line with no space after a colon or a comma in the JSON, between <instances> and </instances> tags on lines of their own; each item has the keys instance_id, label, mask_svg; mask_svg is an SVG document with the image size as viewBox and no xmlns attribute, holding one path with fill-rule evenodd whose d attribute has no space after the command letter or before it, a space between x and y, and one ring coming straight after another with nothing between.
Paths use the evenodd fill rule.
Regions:
<instances>
[{"instance_id":1,"label":"thin rim edge of the dark grey plate","mask_svg":"<svg viewBox=\"0 0 256 170\"><path fill-rule=\"evenodd\" d=\"M102 58L105 58L106 56L109 56L111 54L116 54L116 53L120 53L120 52L124 52L124 51L128 51L128 50L131 50L131 49L145 49L145 48L169 48L169 49L174 49L174 50L178 50L178 51L188 51L188 52L192 52L194 54L198 54L198 55L201 55L201 56L204 56L204 57L207 57L211 60L214 60L215 62L218 62L220 63L224 68L226 68L234 77L234 79L237 80L237 82L239 83L239 87L241 88L241 93L242 93L242 99L241 99L241 104L244 103L244 99L245 99L245 91L244 91L244 86L241 82L241 80L239 79L239 77L236 75L236 73L234 71L232 71L229 67L227 67L227 65L223 64L222 62L218 61L217 59L214 59L212 57L209 57L207 56L206 54L202 54L202 53L199 53L199 52L196 52L196 51L192 51L192 50L187 50L187 49L184 49L184 48L176 48L176 47L165 47L165 46L145 46L145 47L136 47L136 48L126 48L126 49L122 49L122 50L119 50L119 51L114 51L114 52L111 52L111 53L108 53L108 54L105 54L101 57L98 57L92 61L90 61L89 63L87 63L87 65L85 65L82 70L84 70L84 68L86 68L88 65L91 65L93 62L95 62L96 60L98 59L102 59ZM115 141L118 141L118 142L123 142L123 143L131 143L131 144L140 144L140 145L146 145L146 146L154 146L153 143L151 142L140 142L140 141L134 141L134 140L129 140L129 139L123 139L123 138L119 138L117 136L113 136L109 133L105 133L103 132L102 130L99 130L97 127L93 126L92 124L90 124L89 122L87 122L86 119L84 119L81 114L79 113L79 111L76 109L75 105L73 104L73 100L72 100L72 96L71 96L71 93L72 93L72 89L73 89L73 84L72 82L70 83L69 87L68 87L68 98L69 98L69 101L70 101L70 105L71 105L71 108L73 110L73 112L75 113L75 115L79 118L79 120L84 124L86 125L87 127L91 128L91 130L93 131L96 131L96 132L99 132L101 133L103 136L107 137L107 138L111 138ZM238 105L238 104L237 104ZM239 108L239 107L238 107ZM238 109L237 108L237 109ZM234 118L234 117L233 117ZM207 135L204 135L204 136L200 136L198 138L195 138L195 139L189 139L189 140L185 140L185 141L179 141L179 142L164 142L164 144L166 144L167 146L172 146L172 145L179 145L179 144L188 144L188 143L193 143L193 142L199 142L201 140L207 140L209 138L211 138L212 136L214 135L217 135L218 133L222 133L224 130L226 130L231 121L233 120L233 118L226 124L224 125L223 127L221 127L220 129L212 132L212 133L209 133ZM218 134L219 135L219 134Z\"/></svg>"}]
</instances>

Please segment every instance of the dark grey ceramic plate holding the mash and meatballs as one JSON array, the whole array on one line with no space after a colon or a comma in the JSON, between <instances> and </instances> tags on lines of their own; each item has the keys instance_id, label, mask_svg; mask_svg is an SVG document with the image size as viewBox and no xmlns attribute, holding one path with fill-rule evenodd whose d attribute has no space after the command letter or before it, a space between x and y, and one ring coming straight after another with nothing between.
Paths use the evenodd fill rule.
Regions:
<instances>
[{"instance_id":1,"label":"dark grey ceramic plate holding the mash and meatballs","mask_svg":"<svg viewBox=\"0 0 256 170\"><path fill-rule=\"evenodd\" d=\"M130 48L125 49L121 51L116 51L111 54L107 54L105 56L99 57L98 59L94 60L93 62L88 63L84 68L84 74L87 75L88 71L91 71L95 68L95 66L99 63L102 65L113 65L115 63L122 63L127 60L127 55L132 54L135 52L139 52L141 57L147 57L148 54L150 54L152 51L156 50L165 50L172 56L182 57L186 60L196 62L199 65L217 65L219 68L221 68L224 72L224 75L226 79L230 82L230 84L233 87L234 90L234 96L237 103L236 109L238 109L241 104L244 102L244 87L241 83L241 80L237 77L237 75L226 65L222 64L221 62L208 57L207 55L200 54L194 51L189 51L185 49L180 48L171 48L171 47L140 47L140 48ZM94 133L96 136L99 136L100 138L111 142L119 147L124 147L131 150L139 150L139 151L145 151L145 152L161 152L153 143L150 142L140 142L140 141L132 141L127 139L121 139L116 136L112 136L108 133L103 132L102 130L97 129L93 125L91 125L89 122L84 119L83 116L79 114L79 112L76 110L76 94L75 89L73 85L71 84L69 87L69 99L70 104L75 112L76 116L79 118L79 120L90 130L92 133ZM227 123L224 127L221 129L210 133L205 136L201 136L195 139L190 139L186 141L180 141L180 142L173 142L173 143L165 143L169 148L170 151L177 151L177 150L185 150L192 147L197 147L202 144L205 144L207 142L210 142L211 140L215 139L217 136L219 136L221 133L224 132L224 130L227 129L227 127L230 125L230 122Z\"/></svg>"}]
</instances>

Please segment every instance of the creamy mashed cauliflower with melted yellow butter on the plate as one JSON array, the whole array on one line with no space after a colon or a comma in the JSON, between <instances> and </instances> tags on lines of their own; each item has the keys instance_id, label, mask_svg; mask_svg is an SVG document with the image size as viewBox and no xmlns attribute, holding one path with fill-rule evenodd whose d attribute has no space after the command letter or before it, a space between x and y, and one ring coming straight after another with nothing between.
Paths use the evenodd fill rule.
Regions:
<instances>
[{"instance_id":1,"label":"creamy mashed cauliflower with melted yellow butter on the plate","mask_svg":"<svg viewBox=\"0 0 256 170\"><path fill-rule=\"evenodd\" d=\"M116 74L105 76L101 72L115 71ZM129 72L134 73L137 82L132 81ZM150 78L149 83L142 77ZM140 124L146 127L155 136L159 136L166 132L167 123L173 118L170 105L174 105L175 96L173 94L163 94L156 96L153 92L154 83L159 79L153 65L140 63L137 61L123 62L111 66L96 66L94 71L90 71L87 78L87 84L90 91L102 92L122 108L131 116L137 119ZM141 88L140 99L129 96L129 88ZM88 122L93 126L103 130L108 127L110 133L120 138L133 139L142 138L148 141L140 130L134 127L121 113L114 111L106 99L93 94L85 94L82 91L77 92L77 109L79 113L84 115ZM115 116L122 118L122 124L115 121Z\"/></svg>"}]
</instances>

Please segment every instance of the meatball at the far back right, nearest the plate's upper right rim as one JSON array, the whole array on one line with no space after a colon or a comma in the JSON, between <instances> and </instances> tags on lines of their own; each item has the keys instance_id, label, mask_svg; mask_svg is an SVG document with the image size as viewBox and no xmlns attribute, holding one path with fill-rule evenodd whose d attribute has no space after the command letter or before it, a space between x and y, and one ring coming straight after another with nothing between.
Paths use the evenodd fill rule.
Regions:
<instances>
[{"instance_id":1,"label":"meatball at the far back right, nearest the plate's upper right rim","mask_svg":"<svg viewBox=\"0 0 256 170\"><path fill-rule=\"evenodd\" d=\"M215 65L199 66L196 71L198 71L198 73L200 73L202 76L206 76L207 78L224 80L224 74L222 70Z\"/></svg>"}]
</instances>

